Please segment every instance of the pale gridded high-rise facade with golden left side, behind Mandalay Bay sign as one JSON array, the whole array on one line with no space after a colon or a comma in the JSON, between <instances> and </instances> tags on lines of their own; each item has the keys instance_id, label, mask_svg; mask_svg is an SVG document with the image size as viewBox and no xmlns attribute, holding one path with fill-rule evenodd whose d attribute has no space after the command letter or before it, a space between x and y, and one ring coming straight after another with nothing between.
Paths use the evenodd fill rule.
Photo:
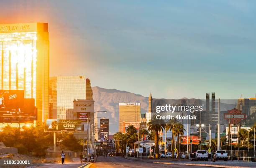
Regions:
<instances>
[{"instance_id":1,"label":"pale gridded high-rise facade with golden left side, behind Mandalay Bay sign","mask_svg":"<svg viewBox=\"0 0 256 168\"><path fill-rule=\"evenodd\" d=\"M51 119L73 119L74 99L85 99L83 76L50 77L49 109Z\"/></svg>"}]
</instances>

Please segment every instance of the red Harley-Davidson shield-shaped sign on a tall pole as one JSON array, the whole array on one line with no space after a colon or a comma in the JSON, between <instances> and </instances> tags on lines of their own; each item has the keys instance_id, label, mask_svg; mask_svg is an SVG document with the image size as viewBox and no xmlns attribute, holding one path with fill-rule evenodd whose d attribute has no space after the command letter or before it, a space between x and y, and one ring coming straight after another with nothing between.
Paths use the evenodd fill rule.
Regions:
<instances>
[{"instance_id":1,"label":"red Harley-Davidson shield-shaped sign on a tall pole","mask_svg":"<svg viewBox=\"0 0 256 168\"><path fill-rule=\"evenodd\" d=\"M228 113L224 114L224 119L229 120L230 124L238 124L242 119L246 119L246 115L242 114L241 110L232 109L228 110Z\"/></svg>"}]
</instances>

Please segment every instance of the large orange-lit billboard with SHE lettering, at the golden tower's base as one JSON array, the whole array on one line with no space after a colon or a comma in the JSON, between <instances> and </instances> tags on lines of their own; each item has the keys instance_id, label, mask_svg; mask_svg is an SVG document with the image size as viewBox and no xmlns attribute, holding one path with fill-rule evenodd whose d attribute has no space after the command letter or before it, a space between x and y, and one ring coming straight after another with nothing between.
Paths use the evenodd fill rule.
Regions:
<instances>
[{"instance_id":1,"label":"large orange-lit billboard with SHE lettering, at the golden tower's base","mask_svg":"<svg viewBox=\"0 0 256 168\"><path fill-rule=\"evenodd\" d=\"M0 122L26 123L37 120L35 99L24 99L24 90L0 90Z\"/></svg>"}]
</instances>

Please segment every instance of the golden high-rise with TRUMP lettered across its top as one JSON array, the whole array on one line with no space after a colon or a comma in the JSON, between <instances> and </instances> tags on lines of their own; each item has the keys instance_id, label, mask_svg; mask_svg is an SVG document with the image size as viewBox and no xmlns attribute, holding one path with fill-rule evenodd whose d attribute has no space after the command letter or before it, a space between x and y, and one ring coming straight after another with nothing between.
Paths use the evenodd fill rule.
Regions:
<instances>
[{"instance_id":1,"label":"golden high-rise with TRUMP lettered across its top","mask_svg":"<svg viewBox=\"0 0 256 168\"><path fill-rule=\"evenodd\" d=\"M124 122L140 122L140 103L119 103L119 132L123 132Z\"/></svg>"}]
</instances>

